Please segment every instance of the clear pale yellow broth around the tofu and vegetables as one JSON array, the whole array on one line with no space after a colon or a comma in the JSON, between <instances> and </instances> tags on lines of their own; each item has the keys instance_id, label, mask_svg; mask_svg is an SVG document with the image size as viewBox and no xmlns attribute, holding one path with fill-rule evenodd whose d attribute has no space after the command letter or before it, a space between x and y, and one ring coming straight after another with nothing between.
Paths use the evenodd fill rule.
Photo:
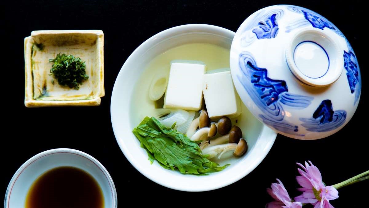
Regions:
<instances>
[{"instance_id":1,"label":"clear pale yellow broth around the tofu and vegetables","mask_svg":"<svg viewBox=\"0 0 369 208\"><path fill-rule=\"evenodd\" d=\"M146 116L153 116L154 109L162 106L163 100L155 102L149 98L149 88L152 80L157 76L169 76L170 62L173 60L188 60L200 61L206 64L207 73L230 67L230 49L220 47L213 44L193 43L184 44L175 48L171 48L165 53L155 57L145 67L144 72L137 81L132 94L131 103L131 120L134 121L132 128L141 123ZM188 80L191 83L191 80ZM237 95L238 96L238 95ZM247 140L249 150L254 146L260 132L255 129L261 129L261 123L247 110L246 106L241 101L241 115L232 118L232 125L237 125L241 128L243 137ZM222 160L212 158L221 165L232 164L238 161L238 158L232 157L232 153L227 157L222 157ZM227 153L226 153L227 154ZM247 153L246 153L247 154ZM224 158L224 159L223 159Z\"/></svg>"}]
</instances>

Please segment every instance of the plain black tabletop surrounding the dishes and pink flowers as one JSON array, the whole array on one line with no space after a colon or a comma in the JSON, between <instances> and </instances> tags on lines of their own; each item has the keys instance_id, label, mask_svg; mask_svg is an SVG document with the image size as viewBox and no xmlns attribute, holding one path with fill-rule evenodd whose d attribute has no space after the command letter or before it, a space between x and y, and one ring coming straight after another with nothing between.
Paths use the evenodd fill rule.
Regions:
<instances>
[{"instance_id":1,"label":"plain black tabletop surrounding the dishes and pink flowers","mask_svg":"<svg viewBox=\"0 0 369 208\"><path fill-rule=\"evenodd\" d=\"M175 191L141 175L122 154L110 121L111 92L124 61L142 42L167 28L203 23L236 31L254 11L273 4L294 4L314 10L331 20L348 38L358 57L363 82L359 107L352 120L337 134L321 140L300 141L278 135L269 154L254 171L215 191ZM1 71L5 72L1 77L2 91L5 91L1 99L3 194L23 162L52 148L77 149L99 160L115 182L120 207L135 196L141 198L138 205L165 202L209 206L227 202L264 207L272 201L265 188L275 182L275 178L282 180L292 197L299 194L295 162L311 160L327 185L369 169L365 133L368 18L360 1L2 1L0 11L2 50L6 51L0 61ZM105 34L106 95L101 105L25 108L24 37L30 36L32 30L84 29L99 29ZM332 205L368 207L368 185L361 182L339 189L339 198L331 201Z\"/></svg>"}]
</instances>

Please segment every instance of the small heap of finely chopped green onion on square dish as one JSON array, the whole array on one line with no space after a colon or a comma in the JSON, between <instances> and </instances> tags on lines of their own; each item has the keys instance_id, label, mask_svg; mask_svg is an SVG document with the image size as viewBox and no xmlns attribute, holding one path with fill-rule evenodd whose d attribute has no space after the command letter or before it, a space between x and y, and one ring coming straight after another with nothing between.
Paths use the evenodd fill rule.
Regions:
<instances>
[{"instance_id":1,"label":"small heap of finely chopped green onion on square dish","mask_svg":"<svg viewBox=\"0 0 369 208\"><path fill-rule=\"evenodd\" d=\"M49 59L49 62L54 62L50 75L54 75L60 85L78 90L82 81L89 78L86 74L86 63L73 55L59 53L56 58Z\"/></svg>"}]
</instances>

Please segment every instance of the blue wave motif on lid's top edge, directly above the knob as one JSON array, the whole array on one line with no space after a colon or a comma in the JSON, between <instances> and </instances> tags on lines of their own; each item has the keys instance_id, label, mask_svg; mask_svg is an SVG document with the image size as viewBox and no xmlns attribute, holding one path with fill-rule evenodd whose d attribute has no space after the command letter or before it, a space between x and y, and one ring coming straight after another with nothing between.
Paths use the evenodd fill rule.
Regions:
<instances>
[{"instance_id":1,"label":"blue wave motif on lid's top edge, directly above the knob","mask_svg":"<svg viewBox=\"0 0 369 208\"><path fill-rule=\"evenodd\" d=\"M311 11L311 10L308 10L302 7L296 7L296 6L287 6L287 8L290 11L293 11L296 13L303 13L305 19L309 21L313 27L319 28L321 30L324 30L324 28L327 27L333 30L339 36L344 37L342 32L338 30L338 28L335 27L334 24L332 24L329 20L325 19L323 16L319 15L318 13L315 13L314 11ZM301 26L304 26L304 24L301 24Z\"/></svg>"}]
</instances>

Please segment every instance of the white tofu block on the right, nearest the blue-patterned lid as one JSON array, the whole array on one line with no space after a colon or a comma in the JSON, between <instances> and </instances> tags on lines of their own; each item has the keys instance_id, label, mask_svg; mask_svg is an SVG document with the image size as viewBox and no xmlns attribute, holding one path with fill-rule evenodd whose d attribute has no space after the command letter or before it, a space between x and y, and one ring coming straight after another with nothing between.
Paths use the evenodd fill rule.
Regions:
<instances>
[{"instance_id":1,"label":"white tofu block on the right, nearest the blue-patterned lid","mask_svg":"<svg viewBox=\"0 0 369 208\"><path fill-rule=\"evenodd\" d=\"M241 113L230 71L204 74L203 93L210 118L234 118Z\"/></svg>"}]
</instances>

